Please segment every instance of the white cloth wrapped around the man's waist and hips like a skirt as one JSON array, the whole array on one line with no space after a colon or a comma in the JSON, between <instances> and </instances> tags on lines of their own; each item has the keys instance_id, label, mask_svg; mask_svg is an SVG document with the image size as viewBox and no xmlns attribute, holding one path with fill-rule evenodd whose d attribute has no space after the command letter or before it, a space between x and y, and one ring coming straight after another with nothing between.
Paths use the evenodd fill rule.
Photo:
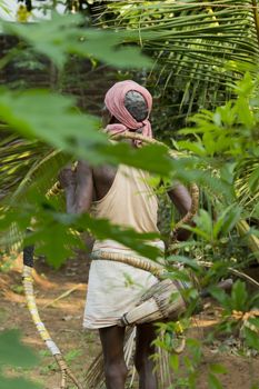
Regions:
<instances>
[{"instance_id":1,"label":"white cloth wrapped around the man's waist and hips like a skirt","mask_svg":"<svg viewBox=\"0 0 259 389\"><path fill-rule=\"evenodd\" d=\"M162 241L149 245L165 250ZM132 250L112 241L96 242L92 255L97 258L101 250L136 256ZM133 268L132 266L110 260L94 259L90 266L87 303L83 317L83 327L98 329L118 325L120 318L133 308L140 297L153 286L158 279L150 272Z\"/></svg>"}]
</instances>

